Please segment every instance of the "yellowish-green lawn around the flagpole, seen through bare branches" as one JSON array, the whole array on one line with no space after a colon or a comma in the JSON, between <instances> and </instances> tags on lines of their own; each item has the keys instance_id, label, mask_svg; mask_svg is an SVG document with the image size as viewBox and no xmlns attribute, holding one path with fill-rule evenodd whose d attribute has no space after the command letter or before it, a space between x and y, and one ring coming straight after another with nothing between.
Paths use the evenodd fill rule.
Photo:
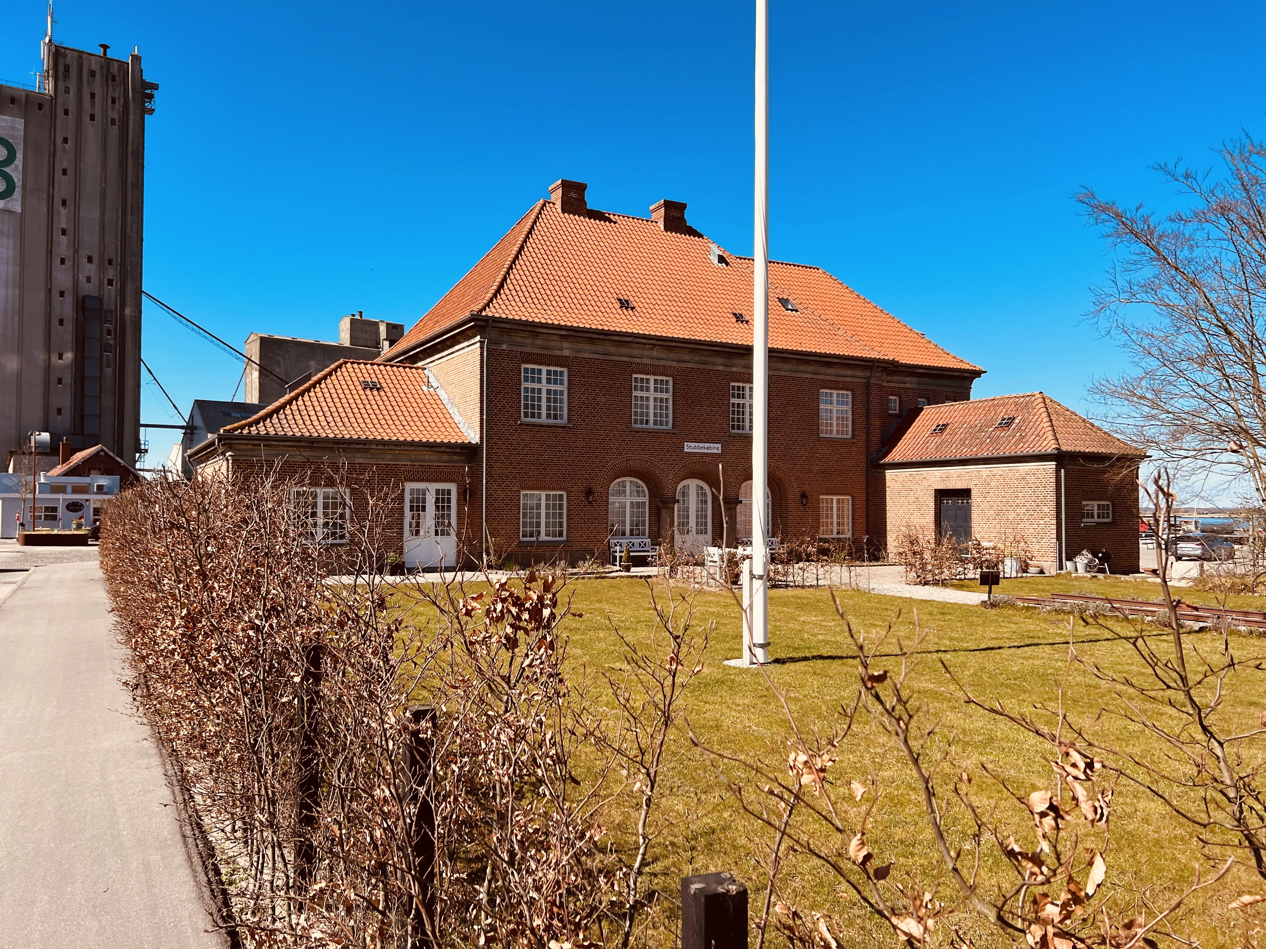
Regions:
<instances>
[{"instance_id":1,"label":"yellowish-green lawn around the flagpole, seen through bare branches","mask_svg":"<svg viewBox=\"0 0 1266 949\"><path fill-rule=\"evenodd\" d=\"M1119 596L1144 597L1144 592L1151 592L1152 596L1146 599L1153 599L1160 593L1156 586L1139 582L1081 580L1074 583L1077 586L1072 588L1080 590L1084 585L1086 590L1112 591ZM1063 578L1024 580L1010 583L1010 587L1022 585L1025 591L1070 588ZM1010 587L1004 585L1004 592L1018 592ZM649 609L648 586L630 578L580 581L571 591L573 609L582 614L568 619L565 626L571 662L577 667L576 678L582 671L619 674L624 668L624 657L611 625L618 625L639 644L651 642L656 624ZM661 597L668 595L662 585L657 585L656 591ZM984 776L979 766L986 763L1022 795L1038 788L1053 790L1050 750L1017 728L974 710L951 695L951 682L939 662L944 661L981 698L1000 700L1023 711L1031 711L1034 702L1055 705L1057 683L1070 668L1066 701L1072 717L1086 723L1095 719L1101 709L1115 709L1118 705L1110 691L1085 668L1067 666L1070 635L1077 653L1087 661L1137 676L1143 667L1129 648L1100 628L1075 620L1070 629L1067 617L1052 617L1036 610L986 611L979 606L858 592L838 596L849 623L855 629L865 630L868 638L891 628L894 648L898 639L901 643L915 640L918 623L925 639L919 648L909 690L925 701L928 714L939 720L936 741L952 757L948 774L957 773L961 766L967 767L974 774L975 793L999 802L1001 822L1009 833L1034 849L1036 838L1028 811ZM829 592L777 590L771 592L770 609L774 659L767 667L770 679L787 695L804 734L830 734L842 720L841 706L851 705L857 693L858 667ZM700 631L710 625L711 642L704 671L687 692L690 724L704 743L717 750L747 760L761 760L774 773L785 773L786 741L791 729L780 704L758 672L722 664L723 659L739 653L739 611L733 597L723 592L695 593L693 623ZM1214 644L1208 634L1200 642L1209 647ZM1237 638L1234 648L1241 659L1266 653L1266 643L1247 636ZM874 667L891 666L895 669L896 664L899 659L889 658L876 661ZM600 691L592 695L601 702ZM1266 707L1266 677L1253 671L1241 673L1219 712L1220 724L1227 729L1248 731L1257 726L1262 707ZM1155 743L1139 739L1112 715L1103 716L1093 728L1098 734L1132 749L1157 750ZM1257 747L1243 750L1246 757L1262 757ZM749 778L733 767L725 767L723 771L732 783L722 781L714 759L693 748L684 733L675 738L674 753L653 821L658 839L653 850L651 884L675 900L680 877L730 871L748 883L752 914L757 914L765 888L758 859L767 853L772 834L744 815L736 802L733 782L749 782ZM853 778L867 781L871 773L884 791L867 830L867 843L876 862L895 860L893 881L903 882L908 891L932 890L950 902L953 898L952 886L938 871L912 773L886 734L868 721L858 723L841 745L839 762L829 771L829 781L836 788L834 800L848 833L842 838L823 839L823 845L833 852L847 852L862 807L870 801L867 796L861 803L855 803L847 786ZM950 783L947 777L942 790L947 791ZM757 787L748 783L746 793L755 800ZM948 822L955 825L957 817L951 815ZM630 828L627 822L620 825L619 820L611 828L614 839L627 844ZM1080 826L1085 828L1084 824ZM1163 903L1167 896L1190 882L1198 867L1206 872L1208 864L1200 859L1193 836L1194 833L1179 825L1155 798L1120 782L1113 800L1112 839L1106 852L1109 883L1123 887L1115 897L1118 905L1132 906L1136 912L1151 919L1153 914L1144 909L1144 898ZM1096 835L1087 834L1087 840L1091 838ZM1008 868L995 845L982 847L981 859L991 877L1005 878ZM1198 939L1205 946L1243 941L1243 915L1227 910L1225 905L1241 892L1263 892L1266 886L1239 868L1232 871L1232 876L1233 881L1224 881L1228 884L1225 888L1205 890L1191 897L1186 921L1179 927L1188 938ZM789 858L780 896L803 911L828 914L834 920L837 936L843 934L842 945L895 945L891 931L870 917L855 896L808 857L796 854ZM675 910L670 900L663 906L666 926L671 931ZM972 936L977 946L1008 944L970 912L963 911L944 922L957 925L963 935ZM944 924L938 927L938 941L948 944L948 927ZM662 934L649 938L651 945L661 943L666 943ZM781 945L782 940L771 944Z\"/></svg>"}]
</instances>

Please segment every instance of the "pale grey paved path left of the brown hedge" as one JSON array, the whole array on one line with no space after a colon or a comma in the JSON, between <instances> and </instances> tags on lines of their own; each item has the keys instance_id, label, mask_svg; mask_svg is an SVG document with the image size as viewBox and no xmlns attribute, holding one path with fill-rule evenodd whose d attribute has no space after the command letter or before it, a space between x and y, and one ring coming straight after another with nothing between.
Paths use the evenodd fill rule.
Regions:
<instances>
[{"instance_id":1,"label":"pale grey paved path left of the brown hedge","mask_svg":"<svg viewBox=\"0 0 1266 949\"><path fill-rule=\"evenodd\" d=\"M227 945L149 730L119 685L95 562L0 604L0 945Z\"/></svg>"}]
</instances>

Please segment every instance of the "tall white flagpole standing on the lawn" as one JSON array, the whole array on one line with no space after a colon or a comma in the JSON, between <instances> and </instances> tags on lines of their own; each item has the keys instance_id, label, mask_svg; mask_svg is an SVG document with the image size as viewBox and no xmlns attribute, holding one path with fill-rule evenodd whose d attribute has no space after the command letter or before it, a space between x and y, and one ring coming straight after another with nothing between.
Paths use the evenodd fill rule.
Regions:
<instances>
[{"instance_id":1,"label":"tall white flagpole standing on the lawn","mask_svg":"<svg viewBox=\"0 0 1266 949\"><path fill-rule=\"evenodd\" d=\"M770 661L770 42L767 0L756 0L756 194L752 275L752 559L744 643L748 663Z\"/></svg>"}]
</instances>

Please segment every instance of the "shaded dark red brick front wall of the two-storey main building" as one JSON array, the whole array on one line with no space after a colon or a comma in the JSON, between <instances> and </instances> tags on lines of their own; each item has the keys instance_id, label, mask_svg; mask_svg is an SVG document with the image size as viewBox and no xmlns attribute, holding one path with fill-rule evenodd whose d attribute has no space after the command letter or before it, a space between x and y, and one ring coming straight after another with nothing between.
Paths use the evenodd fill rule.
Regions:
<instances>
[{"instance_id":1,"label":"shaded dark red brick front wall of the two-storey main building","mask_svg":"<svg viewBox=\"0 0 1266 949\"><path fill-rule=\"evenodd\" d=\"M522 421L522 366L566 368L567 424ZM674 380L672 429L634 429L632 385L634 375L670 376ZM751 375L722 368L633 363L627 361L563 357L510 349L489 353L489 529L499 550L518 545L519 491L549 490L567 495L565 549L605 548L608 488L622 477L643 481L651 495L649 529L660 537L657 499L672 497L686 478L699 478L713 491L713 534L722 535L718 501L722 473L724 495L738 496L751 477L749 435L729 431L729 385L749 382ZM818 391L853 391L851 439L818 435ZM791 538L817 535L819 495L853 497L853 535L866 533L865 381L844 382L804 376L774 376L770 381L770 490L774 531ZM872 421L872 448L879 426ZM720 454L687 454L685 442L722 445ZM592 501L585 490L592 488ZM800 492L808 505L800 504ZM522 548L520 548L522 549ZM558 548L556 547L557 552ZM541 554L547 552L542 547Z\"/></svg>"}]
</instances>

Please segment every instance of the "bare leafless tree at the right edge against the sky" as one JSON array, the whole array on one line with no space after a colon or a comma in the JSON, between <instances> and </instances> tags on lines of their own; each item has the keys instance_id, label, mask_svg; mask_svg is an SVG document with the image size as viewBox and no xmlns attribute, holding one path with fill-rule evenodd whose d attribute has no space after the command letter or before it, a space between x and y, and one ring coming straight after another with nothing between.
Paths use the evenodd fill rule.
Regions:
<instances>
[{"instance_id":1,"label":"bare leafless tree at the right edge against the sky","mask_svg":"<svg viewBox=\"0 0 1266 949\"><path fill-rule=\"evenodd\" d=\"M1169 462L1229 466L1266 497L1266 144L1218 149L1223 170L1158 164L1188 206L1163 218L1077 195L1117 251L1091 314L1131 368L1091 392L1129 442Z\"/></svg>"}]
</instances>

